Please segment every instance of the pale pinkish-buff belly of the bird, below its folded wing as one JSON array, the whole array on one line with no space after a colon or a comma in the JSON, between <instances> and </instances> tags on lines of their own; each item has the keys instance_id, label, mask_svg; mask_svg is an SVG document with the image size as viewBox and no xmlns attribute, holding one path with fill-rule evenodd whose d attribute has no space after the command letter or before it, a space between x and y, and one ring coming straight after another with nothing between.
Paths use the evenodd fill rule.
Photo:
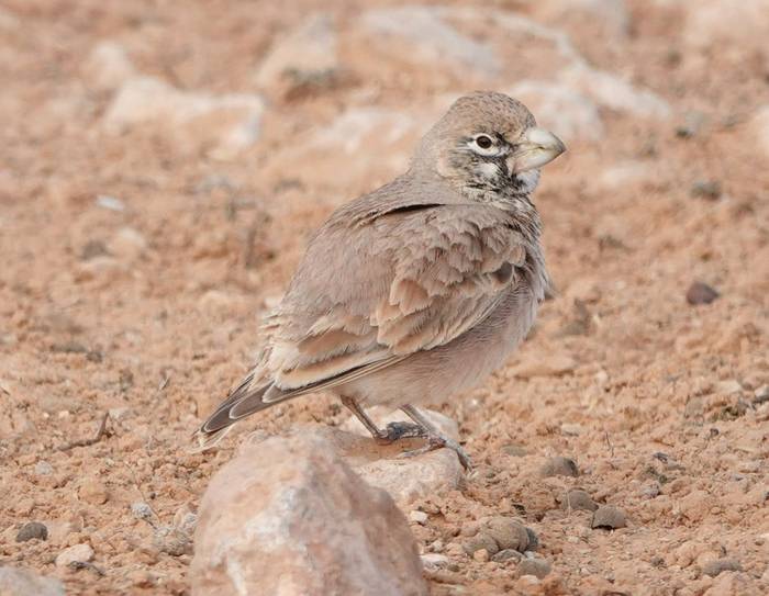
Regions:
<instances>
[{"instance_id":1,"label":"pale pinkish-buff belly of the bird, below its folded wing","mask_svg":"<svg viewBox=\"0 0 769 596\"><path fill-rule=\"evenodd\" d=\"M399 407L449 401L478 386L524 339L536 317L528 291L510 293L478 326L455 340L337 387L361 404Z\"/></svg>"}]
</instances>

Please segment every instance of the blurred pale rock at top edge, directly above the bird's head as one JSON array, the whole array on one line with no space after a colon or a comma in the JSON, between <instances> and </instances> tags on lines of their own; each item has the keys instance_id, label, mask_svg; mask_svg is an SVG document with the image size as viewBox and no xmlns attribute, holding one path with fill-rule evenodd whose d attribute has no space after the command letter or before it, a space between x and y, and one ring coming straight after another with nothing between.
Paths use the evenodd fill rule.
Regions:
<instances>
[{"instance_id":1,"label":"blurred pale rock at top edge, directly above the bird's head","mask_svg":"<svg viewBox=\"0 0 769 596\"><path fill-rule=\"evenodd\" d=\"M501 70L490 46L462 35L435 7L369 10L363 14L360 26L382 52L395 52L412 61L447 65L460 72L497 75Z\"/></svg>"}]
</instances>

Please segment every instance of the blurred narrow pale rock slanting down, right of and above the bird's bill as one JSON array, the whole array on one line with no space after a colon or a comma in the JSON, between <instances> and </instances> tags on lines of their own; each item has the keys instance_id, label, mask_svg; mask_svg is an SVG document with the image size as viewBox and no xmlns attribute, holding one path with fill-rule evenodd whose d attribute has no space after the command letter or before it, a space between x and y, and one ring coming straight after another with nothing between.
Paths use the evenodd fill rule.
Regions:
<instances>
[{"instance_id":1,"label":"blurred narrow pale rock slanting down, right of and above the bird's bill","mask_svg":"<svg viewBox=\"0 0 769 596\"><path fill-rule=\"evenodd\" d=\"M571 87L599 104L640 117L668 119L668 102L647 89L636 89L620 77L584 64L575 64L561 70L560 82Z\"/></svg>"}]
</instances>

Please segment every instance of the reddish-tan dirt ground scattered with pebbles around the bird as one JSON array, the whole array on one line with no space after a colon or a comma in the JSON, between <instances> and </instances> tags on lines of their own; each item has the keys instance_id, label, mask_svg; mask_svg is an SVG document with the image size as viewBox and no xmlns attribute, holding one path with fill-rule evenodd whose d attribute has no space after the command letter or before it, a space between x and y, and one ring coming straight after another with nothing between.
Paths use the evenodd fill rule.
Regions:
<instances>
[{"instance_id":1,"label":"reddish-tan dirt ground scattered with pebbles around the bird","mask_svg":"<svg viewBox=\"0 0 769 596\"><path fill-rule=\"evenodd\" d=\"M158 552L131 505L170 522L246 432L347 418L312 396L188 451L331 210L398 173L447 98L546 79L561 59L531 37L500 49L491 74L416 61L366 43L357 19L375 4L392 5L0 2L0 564L58 576L70 594L188 594L191 555ZM629 1L623 31L555 2L454 4L565 31L588 64L670 113L599 104L600 134L572 135L544 171L535 202L559 292L504 370L443 407L477 473L417 504L433 511L413 527L420 548L454 563L434 594L769 592L769 119L757 116L769 59L753 30L698 45L683 4ZM322 9L343 32L341 74L260 87L265 54ZM488 19L467 34L508 43ZM260 94L258 139L222 148L205 119L183 134L110 130L120 68L93 66L103 41L176 89ZM357 137L372 113L383 132ZM696 281L720 296L689 304ZM579 475L544 477L554 456ZM565 509L575 486L620 507L626 527L591 529L590 513ZM505 514L538 533L543 580L456 547L464 526ZM48 539L18 542L29 521ZM91 565L55 564L81 542ZM724 559L731 569L709 575Z\"/></svg>"}]
</instances>

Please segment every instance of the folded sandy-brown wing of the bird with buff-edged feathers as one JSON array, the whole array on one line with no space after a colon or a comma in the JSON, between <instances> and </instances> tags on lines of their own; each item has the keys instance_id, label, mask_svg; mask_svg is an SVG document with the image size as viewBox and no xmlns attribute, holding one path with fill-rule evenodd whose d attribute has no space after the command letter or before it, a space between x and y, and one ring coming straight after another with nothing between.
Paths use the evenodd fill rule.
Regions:
<instances>
[{"instance_id":1,"label":"folded sandy-brown wing of the bird with buff-edged feathers","mask_svg":"<svg viewBox=\"0 0 769 596\"><path fill-rule=\"evenodd\" d=\"M283 393L315 391L447 344L519 282L527 254L509 214L488 205L332 220L274 318L261 366Z\"/></svg>"}]
</instances>

